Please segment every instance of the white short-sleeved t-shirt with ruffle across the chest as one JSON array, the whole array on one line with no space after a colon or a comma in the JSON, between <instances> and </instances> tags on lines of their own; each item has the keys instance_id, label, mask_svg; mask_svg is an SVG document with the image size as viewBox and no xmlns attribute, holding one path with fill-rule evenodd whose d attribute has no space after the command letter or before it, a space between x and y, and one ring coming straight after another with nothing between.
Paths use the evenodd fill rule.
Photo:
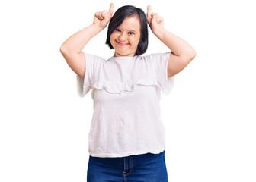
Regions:
<instances>
[{"instance_id":1,"label":"white short-sleeved t-shirt with ruffle across the chest","mask_svg":"<svg viewBox=\"0 0 256 182\"><path fill-rule=\"evenodd\" d=\"M85 55L85 78L77 76L77 85L81 97L92 89L91 156L157 154L165 149L159 101L161 89L168 95L174 85L174 77L167 78L169 55L108 60Z\"/></svg>"}]
</instances>

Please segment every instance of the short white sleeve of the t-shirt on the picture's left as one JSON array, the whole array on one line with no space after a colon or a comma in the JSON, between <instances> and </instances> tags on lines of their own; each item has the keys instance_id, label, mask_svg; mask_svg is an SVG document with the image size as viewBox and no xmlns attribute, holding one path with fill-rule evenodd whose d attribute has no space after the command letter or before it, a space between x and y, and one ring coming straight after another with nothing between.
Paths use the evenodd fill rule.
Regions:
<instances>
[{"instance_id":1,"label":"short white sleeve of the t-shirt on the picture's left","mask_svg":"<svg viewBox=\"0 0 256 182\"><path fill-rule=\"evenodd\" d=\"M99 59L97 56L85 54L85 77L76 75L78 96L84 97L91 89L91 80L94 74L94 62Z\"/></svg>"}]
</instances>

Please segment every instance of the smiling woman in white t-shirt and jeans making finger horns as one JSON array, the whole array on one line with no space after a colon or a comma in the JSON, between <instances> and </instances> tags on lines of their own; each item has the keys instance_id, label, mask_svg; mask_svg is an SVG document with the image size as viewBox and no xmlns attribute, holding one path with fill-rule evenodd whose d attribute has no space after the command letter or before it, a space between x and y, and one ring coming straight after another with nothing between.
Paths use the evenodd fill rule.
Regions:
<instances>
[{"instance_id":1,"label":"smiling woman in white t-shirt and jeans making finger horns","mask_svg":"<svg viewBox=\"0 0 256 182\"><path fill-rule=\"evenodd\" d=\"M183 39L164 29L164 20L134 6L95 13L94 22L70 36L60 48L78 75L78 93L92 89L94 114L89 133L88 182L167 181L165 128L160 118L161 89L171 91L174 75L195 57ZM114 56L104 60L82 52L107 27ZM171 52L141 56L151 28Z\"/></svg>"}]
</instances>

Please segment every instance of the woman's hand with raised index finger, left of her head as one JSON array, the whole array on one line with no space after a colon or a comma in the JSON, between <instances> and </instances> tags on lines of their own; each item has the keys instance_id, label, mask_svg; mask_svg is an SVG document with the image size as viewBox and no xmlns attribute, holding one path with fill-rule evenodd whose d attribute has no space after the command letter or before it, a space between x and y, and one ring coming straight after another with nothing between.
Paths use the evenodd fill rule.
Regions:
<instances>
[{"instance_id":1,"label":"woman's hand with raised index finger, left of her head","mask_svg":"<svg viewBox=\"0 0 256 182\"><path fill-rule=\"evenodd\" d=\"M98 25L98 27L104 28L107 27L108 22L110 21L113 14L114 4L110 4L110 8L108 11L98 11L94 14L94 24Z\"/></svg>"}]
</instances>

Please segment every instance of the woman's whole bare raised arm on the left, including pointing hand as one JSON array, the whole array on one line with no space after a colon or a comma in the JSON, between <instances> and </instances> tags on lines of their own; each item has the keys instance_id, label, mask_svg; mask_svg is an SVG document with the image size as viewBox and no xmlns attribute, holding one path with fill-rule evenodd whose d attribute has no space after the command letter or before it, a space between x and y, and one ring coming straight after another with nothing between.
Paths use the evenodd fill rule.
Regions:
<instances>
[{"instance_id":1,"label":"woman's whole bare raised arm on the left, including pointing hand","mask_svg":"<svg viewBox=\"0 0 256 182\"><path fill-rule=\"evenodd\" d=\"M80 77L85 77L85 54L82 52L89 40L107 27L113 14L114 5L111 3L109 11L99 11L94 14L94 22L88 27L70 36L62 46L60 52L72 71Z\"/></svg>"}]
</instances>

